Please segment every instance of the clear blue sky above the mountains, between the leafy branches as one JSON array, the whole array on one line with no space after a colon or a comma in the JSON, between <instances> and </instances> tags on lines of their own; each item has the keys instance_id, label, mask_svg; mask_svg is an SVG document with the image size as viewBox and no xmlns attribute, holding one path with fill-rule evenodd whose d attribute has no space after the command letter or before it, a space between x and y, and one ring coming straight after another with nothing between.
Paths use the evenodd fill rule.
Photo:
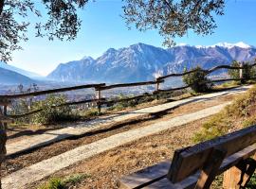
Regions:
<instances>
[{"instance_id":1,"label":"clear blue sky above the mountains, between the leafy branches","mask_svg":"<svg viewBox=\"0 0 256 189\"><path fill-rule=\"evenodd\" d=\"M162 46L163 39L157 31L128 30L122 14L120 0L96 0L80 12L82 29L73 42L48 42L34 37L28 30L29 41L22 43L24 50L13 53L9 64L47 75L61 62L81 60L84 56L97 58L110 47L120 48L133 43ZM216 18L218 28L210 36L197 36L190 32L176 43L210 45L219 42L244 42L256 45L256 0L228 0L225 15ZM41 9L41 8L40 8ZM35 18L29 17L31 22Z\"/></svg>"}]
</instances>

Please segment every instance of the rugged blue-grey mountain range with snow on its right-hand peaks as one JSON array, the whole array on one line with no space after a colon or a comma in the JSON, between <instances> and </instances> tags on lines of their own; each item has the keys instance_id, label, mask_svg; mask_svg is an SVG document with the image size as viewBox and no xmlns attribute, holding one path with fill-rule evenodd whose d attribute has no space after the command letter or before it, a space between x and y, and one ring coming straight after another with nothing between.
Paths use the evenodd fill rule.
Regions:
<instances>
[{"instance_id":1,"label":"rugged blue-grey mountain range with snow on its right-hand peaks","mask_svg":"<svg viewBox=\"0 0 256 189\"><path fill-rule=\"evenodd\" d=\"M179 45L167 49L137 43L118 50L110 48L96 60L84 57L61 63L47 77L64 82L135 82L180 73L196 65L211 68L255 57L256 48L246 43Z\"/></svg>"}]
</instances>

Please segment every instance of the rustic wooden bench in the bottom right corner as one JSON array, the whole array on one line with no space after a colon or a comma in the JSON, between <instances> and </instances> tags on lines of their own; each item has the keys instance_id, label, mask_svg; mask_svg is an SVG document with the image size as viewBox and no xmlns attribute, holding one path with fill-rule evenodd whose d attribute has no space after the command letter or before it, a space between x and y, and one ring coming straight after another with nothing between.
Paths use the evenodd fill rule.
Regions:
<instances>
[{"instance_id":1,"label":"rustic wooden bench in the bottom right corner","mask_svg":"<svg viewBox=\"0 0 256 189\"><path fill-rule=\"evenodd\" d=\"M256 126L175 150L171 161L158 163L125 176L120 188L210 188L224 173L225 188L241 188L255 171ZM227 171L229 170L229 171Z\"/></svg>"}]
</instances>

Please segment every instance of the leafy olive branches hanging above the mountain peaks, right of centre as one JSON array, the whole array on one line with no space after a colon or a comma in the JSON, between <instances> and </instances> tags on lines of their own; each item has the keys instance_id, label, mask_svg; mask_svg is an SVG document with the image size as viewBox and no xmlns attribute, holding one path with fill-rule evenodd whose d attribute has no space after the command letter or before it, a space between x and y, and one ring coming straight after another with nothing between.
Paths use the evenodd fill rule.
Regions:
<instances>
[{"instance_id":1,"label":"leafy olive branches hanging above the mountain peaks, right of centre","mask_svg":"<svg viewBox=\"0 0 256 189\"><path fill-rule=\"evenodd\" d=\"M225 0L125 0L124 18L128 26L135 24L145 31L157 29L164 44L174 44L192 30L196 34L212 34L216 27L213 15L223 15Z\"/></svg>"}]
</instances>

